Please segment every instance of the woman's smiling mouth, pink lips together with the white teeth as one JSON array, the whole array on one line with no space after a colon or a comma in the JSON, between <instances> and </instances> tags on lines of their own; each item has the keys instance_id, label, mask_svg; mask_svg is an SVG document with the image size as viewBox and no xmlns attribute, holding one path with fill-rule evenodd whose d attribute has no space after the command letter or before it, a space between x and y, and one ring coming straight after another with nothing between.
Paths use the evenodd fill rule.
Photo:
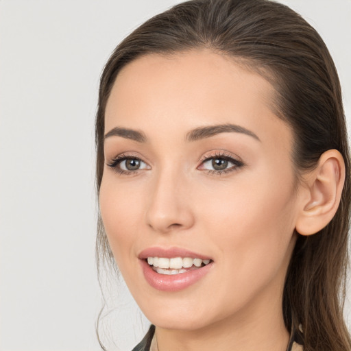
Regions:
<instances>
[{"instance_id":1,"label":"woman's smiling mouth, pink lips together with the white teeth","mask_svg":"<svg viewBox=\"0 0 351 351\"><path fill-rule=\"evenodd\" d=\"M145 280L161 291L180 291L205 276L213 267L213 260L173 248L149 248L138 255Z\"/></svg>"}]
</instances>

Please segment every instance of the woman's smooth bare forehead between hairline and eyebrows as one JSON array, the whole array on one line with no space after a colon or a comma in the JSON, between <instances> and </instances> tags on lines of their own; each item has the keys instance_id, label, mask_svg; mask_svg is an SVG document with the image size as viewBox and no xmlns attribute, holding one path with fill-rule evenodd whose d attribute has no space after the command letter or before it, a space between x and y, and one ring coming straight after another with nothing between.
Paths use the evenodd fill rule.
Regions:
<instances>
[{"instance_id":1,"label":"woman's smooth bare forehead between hairline and eyebrows","mask_svg":"<svg viewBox=\"0 0 351 351\"><path fill-rule=\"evenodd\" d=\"M116 125L172 133L235 123L259 134L269 125L267 137L283 128L288 136L289 128L272 108L274 93L264 77L208 49L142 56L114 82L105 132Z\"/></svg>"}]
</instances>

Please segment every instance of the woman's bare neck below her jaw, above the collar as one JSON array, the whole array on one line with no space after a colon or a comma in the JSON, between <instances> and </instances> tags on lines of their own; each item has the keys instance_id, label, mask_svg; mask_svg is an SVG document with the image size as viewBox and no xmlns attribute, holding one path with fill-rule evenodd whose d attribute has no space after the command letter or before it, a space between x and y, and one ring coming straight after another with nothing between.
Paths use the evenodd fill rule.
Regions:
<instances>
[{"instance_id":1,"label":"woman's bare neck below her jaw, above the collar","mask_svg":"<svg viewBox=\"0 0 351 351\"><path fill-rule=\"evenodd\" d=\"M156 326L158 351L286 351L289 332L282 316L281 299L277 298L273 306L264 302L196 330Z\"/></svg>"}]
</instances>

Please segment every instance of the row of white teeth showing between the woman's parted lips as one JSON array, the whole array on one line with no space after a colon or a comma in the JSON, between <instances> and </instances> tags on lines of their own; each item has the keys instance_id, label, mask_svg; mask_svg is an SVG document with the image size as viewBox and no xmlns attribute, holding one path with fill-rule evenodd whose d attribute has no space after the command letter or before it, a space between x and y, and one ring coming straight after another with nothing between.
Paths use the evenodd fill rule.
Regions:
<instances>
[{"instance_id":1,"label":"row of white teeth showing between the woman's parted lips","mask_svg":"<svg viewBox=\"0 0 351 351\"><path fill-rule=\"evenodd\" d=\"M175 274L184 274L188 271L193 271L204 267L212 262L212 260L191 257L147 257L147 264L152 267L158 274L165 274L167 276Z\"/></svg>"}]
</instances>

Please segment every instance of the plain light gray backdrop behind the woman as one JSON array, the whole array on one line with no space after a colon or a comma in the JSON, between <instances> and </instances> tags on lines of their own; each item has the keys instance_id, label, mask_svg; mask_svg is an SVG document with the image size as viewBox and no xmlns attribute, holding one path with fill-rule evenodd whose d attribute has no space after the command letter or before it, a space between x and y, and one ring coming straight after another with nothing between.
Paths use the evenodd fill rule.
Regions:
<instances>
[{"instance_id":1,"label":"plain light gray backdrop behind the woman","mask_svg":"<svg viewBox=\"0 0 351 351\"><path fill-rule=\"evenodd\" d=\"M178 2L0 0L1 351L99 350L93 136L99 74L126 34ZM351 0L283 2L326 41L350 123ZM117 304L119 323L110 332L121 350L130 350L145 327L125 290Z\"/></svg>"}]
</instances>

